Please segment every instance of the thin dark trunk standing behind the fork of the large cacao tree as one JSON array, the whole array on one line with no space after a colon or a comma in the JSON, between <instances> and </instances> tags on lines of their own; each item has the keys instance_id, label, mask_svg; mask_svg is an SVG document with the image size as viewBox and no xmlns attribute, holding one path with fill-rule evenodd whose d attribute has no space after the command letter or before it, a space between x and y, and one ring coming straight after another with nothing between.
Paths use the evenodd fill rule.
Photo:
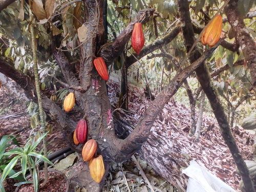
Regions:
<instances>
[{"instance_id":1,"label":"thin dark trunk standing behind the fork of the large cacao tree","mask_svg":"<svg viewBox=\"0 0 256 192\"><path fill-rule=\"evenodd\" d=\"M125 64L122 67L122 76L121 76L121 89L119 95L119 108L122 108L126 111L129 110L129 96L128 96L128 82L127 82L127 68Z\"/></svg>"}]
</instances>

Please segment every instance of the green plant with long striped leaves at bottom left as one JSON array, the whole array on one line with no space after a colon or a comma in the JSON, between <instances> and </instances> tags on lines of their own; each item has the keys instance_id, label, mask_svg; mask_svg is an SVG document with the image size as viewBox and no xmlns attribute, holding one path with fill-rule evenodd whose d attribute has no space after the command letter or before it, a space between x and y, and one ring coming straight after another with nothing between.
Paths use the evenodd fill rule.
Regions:
<instances>
[{"instance_id":1,"label":"green plant with long striped leaves at bottom left","mask_svg":"<svg viewBox=\"0 0 256 192\"><path fill-rule=\"evenodd\" d=\"M4 156L13 156L10 160L10 162L6 165L6 167L3 170L2 177L0 178L0 189L1 191L5 192L3 181L6 179L6 177L10 174L12 168L17 164L18 160L20 160L20 164L22 165L22 170L19 172L13 174L9 178L15 178L19 176L20 174L23 175L25 181L19 182L17 185L22 185L26 183L33 183L34 185L34 191L38 191L38 185L39 185L39 170L37 168L37 165L40 161L47 162L51 165L53 163L47 159L47 157L41 155L42 150L39 153L36 153L36 147L40 143L40 141L46 137L48 133L45 133L44 135L41 135L36 141L33 142L32 138L28 140L28 142L25 144L25 146L22 147L16 147L10 150L9 152L5 152L1 157ZM26 172L29 170L32 181L28 181L26 178Z\"/></svg>"}]
</instances>

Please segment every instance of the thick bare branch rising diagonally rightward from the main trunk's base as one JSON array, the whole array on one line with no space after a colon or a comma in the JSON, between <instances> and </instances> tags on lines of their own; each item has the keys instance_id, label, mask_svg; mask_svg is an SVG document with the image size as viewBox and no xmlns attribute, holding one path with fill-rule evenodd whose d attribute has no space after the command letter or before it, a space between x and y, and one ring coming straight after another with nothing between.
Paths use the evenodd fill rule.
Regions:
<instances>
[{"instance_id":1,"label":"thick bare branch rising diagonally rightward from the main trunk's base","mask_svg":"<svg viewBox=\"0 0 256 192\"><path fill-rule=\"evenodd\" d=\"M217 45L218 46L218 45ZM135 130L121 143L119 143L120 149L116 158L119 161L123 161L131 157L136 151L138 151L141 145L146 141L148 135L150 134L151 127L156 120L156 117L163 109L164 105L169 101L169 99L177 92L184 80L198 68L201 63L211 55L212 52L217 48L213 47L207 50L200 58L193 62L190 66L181 70L177 75L170 81L168 86L163 88L159 95L155 98L150 106L141 117Z\"/></svg>"}]
</instances>

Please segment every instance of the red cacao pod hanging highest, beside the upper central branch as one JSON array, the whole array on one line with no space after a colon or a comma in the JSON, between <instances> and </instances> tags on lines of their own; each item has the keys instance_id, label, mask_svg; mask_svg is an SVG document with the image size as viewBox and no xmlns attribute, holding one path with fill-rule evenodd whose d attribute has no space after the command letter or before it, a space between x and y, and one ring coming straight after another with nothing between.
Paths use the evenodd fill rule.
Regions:
<instances>
[{"instance_id":1,"label":"red cacao pod hanging highest, beside the upper central branch","mask_svg":"<svg viewBox=\"0 0 256 192\"><path fill-rule=\"evenodd\" d=\"M145 38L141 23L135 23L132 32L132 47L138 55L144 46Z\"/></svg>"}]
</instances>

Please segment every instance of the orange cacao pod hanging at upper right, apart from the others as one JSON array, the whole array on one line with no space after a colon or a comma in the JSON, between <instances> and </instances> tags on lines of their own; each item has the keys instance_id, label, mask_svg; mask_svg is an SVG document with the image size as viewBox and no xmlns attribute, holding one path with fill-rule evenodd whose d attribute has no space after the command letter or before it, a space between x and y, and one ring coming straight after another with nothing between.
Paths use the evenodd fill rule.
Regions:
<instances>
[{"instance_id":1,"label":"orange cacao pod hanging at upper right, apart from the others","mask_svg":"<svg viewBox=\"0 0 256 192\"><path fill-rule=\"evenodd\" d=\"M217 15L210 21L208 27L204 30L201 36L201 42L203 45L214 46L221 37L222 30L222 16Z\"/></svg>"}]
</instances>

